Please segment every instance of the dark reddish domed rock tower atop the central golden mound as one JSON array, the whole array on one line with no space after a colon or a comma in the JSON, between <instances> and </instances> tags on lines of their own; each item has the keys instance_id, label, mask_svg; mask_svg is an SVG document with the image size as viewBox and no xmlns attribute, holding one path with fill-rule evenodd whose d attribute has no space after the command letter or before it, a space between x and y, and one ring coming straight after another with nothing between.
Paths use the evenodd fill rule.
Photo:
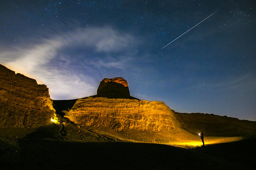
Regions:
<instances>
[{"instance_id":1,"label":"dark reddish domed rock tower atop the central golden mound","mask_svg":"<svg viewBox=\"0 0 256 170\"><path fill-rule=\"evenodd\" d=\"M122 77L104 78L97 90L97 97L136 99L130 96L128 83Z\"/></svg>"}]
</instances>

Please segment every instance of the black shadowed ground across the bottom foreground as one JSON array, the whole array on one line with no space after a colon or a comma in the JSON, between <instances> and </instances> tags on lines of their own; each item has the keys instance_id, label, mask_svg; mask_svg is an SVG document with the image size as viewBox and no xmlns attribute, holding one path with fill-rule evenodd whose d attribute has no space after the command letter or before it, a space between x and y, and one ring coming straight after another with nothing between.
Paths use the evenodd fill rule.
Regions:
<instances>
[{"instance_id":1,"label":"black shadowed ground across the bottom foreground","mask_svg":"<svg viewBox=\"0 0 256 170\"><path fill-rule=\"evenodd\" d=\"M253 170L256 167L255 139L184 149L164 144L65 141L51 134L54 133L37 131L11 140L8 136L14 135L5 134L0 138L0 170Z\"/></svg>"}]
</instances>

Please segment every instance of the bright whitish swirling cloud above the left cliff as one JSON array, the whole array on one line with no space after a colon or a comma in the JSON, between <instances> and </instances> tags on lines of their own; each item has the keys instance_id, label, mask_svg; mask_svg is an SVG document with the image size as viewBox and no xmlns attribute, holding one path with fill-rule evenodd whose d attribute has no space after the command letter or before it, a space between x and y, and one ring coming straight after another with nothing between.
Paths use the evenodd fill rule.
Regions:
<instances>
[{"instance_id":1,"label":"bright whitish swirling cloud above the left cliff","mask_svg":"<svg viewBox=\"0 0 256 170\"><path fill-rule=\"evenodd\" d=\"M91 57L83 69L71 63L76 56L58 56L67 48L86 48L94 54L110 56L111 53L126 51L137 44L137 38L132 34L125 34L109 26L78 28L70 33L55 33L52 38L42 38L38 42L27 42L12 47L11 51L0 51L0 62L8 68L30 76L46 84L53 99L79 98L96 93L99 82L95 81L97 70L91 67L111 67L123 69L128 58L93 59ZM55 59L62 62L56 62ZM88 72L90 71L90 72Z\"/></svg>"}]
</instances>

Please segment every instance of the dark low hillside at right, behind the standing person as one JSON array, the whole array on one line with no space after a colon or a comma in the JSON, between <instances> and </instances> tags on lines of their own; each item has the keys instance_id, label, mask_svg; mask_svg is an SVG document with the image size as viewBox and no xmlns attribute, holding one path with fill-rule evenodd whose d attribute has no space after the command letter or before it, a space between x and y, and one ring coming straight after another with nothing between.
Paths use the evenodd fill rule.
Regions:
<instances>
[{"instance_id":1,"label":"dark low hillside at right, behind the standing person","mask_svg":"<svg viewBox=\"0 0 256 170\"><path fill-rule=\"evenodd\" d=\"M175 112L175 116L183 129L192 134L202 130L205 136L256 136L255 121L203 113Z\"/></svg>"}]
</instances>

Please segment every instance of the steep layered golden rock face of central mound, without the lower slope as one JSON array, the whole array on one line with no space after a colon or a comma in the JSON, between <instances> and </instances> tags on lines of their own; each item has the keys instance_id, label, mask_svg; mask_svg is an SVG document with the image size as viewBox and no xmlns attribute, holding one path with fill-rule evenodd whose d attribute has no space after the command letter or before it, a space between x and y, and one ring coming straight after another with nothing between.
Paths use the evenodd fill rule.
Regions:
<instances>
[{"instance_id":1,"label":"steep layered golden rock face of central mound, without the lower slope","mask_svg":"<svg viewBox=\"0 0 256 170\"><path fill-rule=\"evenodd\" d=\"M174 112L164 102L88 97L77 100L65 117L79 126L103 126L119 131L177 130Z\"/></svg>"}]
</instances>

